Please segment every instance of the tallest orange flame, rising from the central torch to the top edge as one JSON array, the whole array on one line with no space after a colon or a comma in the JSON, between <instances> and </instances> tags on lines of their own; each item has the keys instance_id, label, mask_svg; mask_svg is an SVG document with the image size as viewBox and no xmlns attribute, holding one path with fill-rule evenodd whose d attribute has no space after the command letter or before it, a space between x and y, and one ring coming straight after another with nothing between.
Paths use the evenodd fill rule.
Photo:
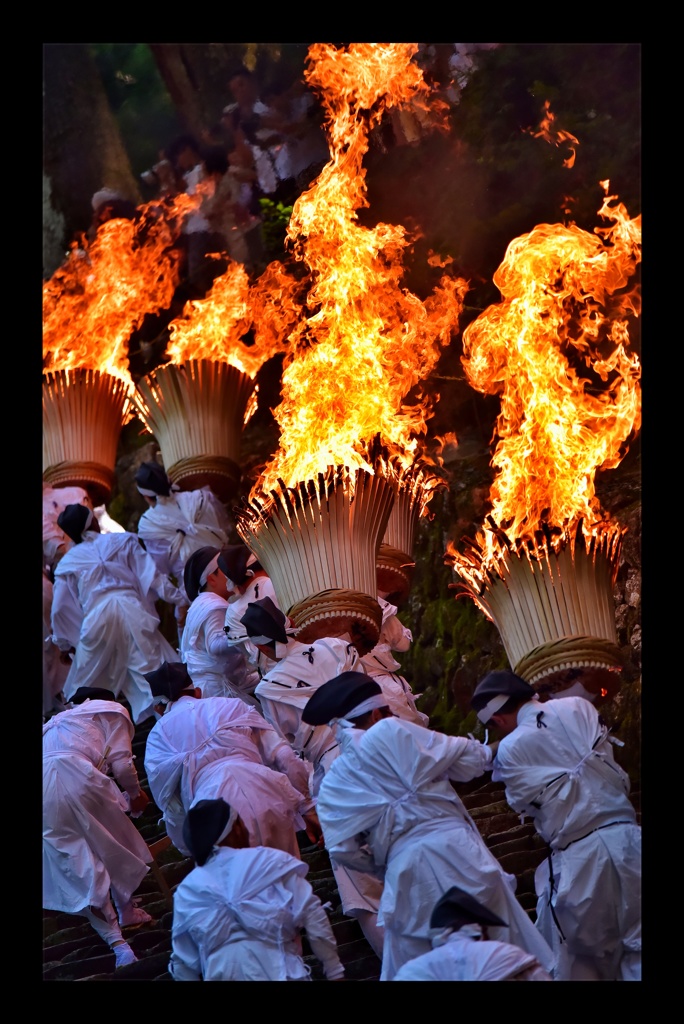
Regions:
<instances>
[{"instance_id":1,"label":"tallest orange flame, rising from the central torch to the top edge","mask_svg":"<svg viewBox=\"0 0 684 1024\"><path fill-rule=\"evenodd\" d=\"M322 94L331 159L295 203L288 239L310 271L309 314L292 336L273 415L280 451L252 490L314 478L328 466L373 471L364 447L380 435L413 462L431 415L428 398L404 399L448 344L467 291L444 275L426 301L401 287L409 245L400 225L361 226L368 206L362 159L369 132L393 105L434 111L413 43L313 44L306 79Z\"/></svg>"}]
</instances>

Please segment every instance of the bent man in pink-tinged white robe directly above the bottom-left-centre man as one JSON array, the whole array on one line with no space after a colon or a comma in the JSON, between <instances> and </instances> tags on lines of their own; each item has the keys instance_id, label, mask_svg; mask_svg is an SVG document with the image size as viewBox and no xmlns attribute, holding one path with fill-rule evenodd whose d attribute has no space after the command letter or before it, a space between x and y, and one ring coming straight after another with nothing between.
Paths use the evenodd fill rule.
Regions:
<instances>
[{"instance_id":1,"label":"bent man in pink-tinged white robe directly above the bottom-left-centre man","mask_svg":"<svg viewBox=\"0 0 684 1024\"><path fill-rule=\"evenodd\" d=\"M252 846L300 857L297 833L320 835L308 772L255 708L202 697L182 664L147 676L164 713L147 735L144 767L168 835L181 853L185 815L200 800L230 799Z\"/></svg>"}]
</instances>

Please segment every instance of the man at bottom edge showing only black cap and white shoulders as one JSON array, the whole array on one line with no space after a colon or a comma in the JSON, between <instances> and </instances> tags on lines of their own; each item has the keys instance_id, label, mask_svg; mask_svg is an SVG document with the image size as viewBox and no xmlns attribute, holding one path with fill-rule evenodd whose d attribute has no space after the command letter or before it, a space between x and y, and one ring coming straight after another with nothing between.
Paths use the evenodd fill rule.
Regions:
<instances>
[{"instance_id":1,"label":"man at bottom edge showing only black cap and white shoulders","mask_svg":"<svg viewBox=\"0 0 684 1024\"><path fill-rule=\"evenodd\" d=\"M491 926L506 922L458 886L432 911L432 949L409 961L393 981L553 981L519 946L489 939Z\"/></svg>"}]
</instances>

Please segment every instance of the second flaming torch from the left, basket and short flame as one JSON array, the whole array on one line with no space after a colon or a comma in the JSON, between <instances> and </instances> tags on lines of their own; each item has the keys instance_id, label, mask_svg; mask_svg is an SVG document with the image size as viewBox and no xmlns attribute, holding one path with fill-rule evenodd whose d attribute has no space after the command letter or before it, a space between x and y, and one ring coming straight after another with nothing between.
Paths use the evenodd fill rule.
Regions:
<instances>
[{"instance_id":1,"label":"second flaming torch from the left, basket and short flame","mask_svg":"<svg viewBox=\"0 0 684 1024\"><path fill-rule=\"evenodd\" d=\"M170 324L169 361L138 381L135 406L178 486L234 498L242 430L257 408L255 378L286 348L299 288L279 263L250 285L245 267L229 261L207 296Z\"/></svg>"}]
</instances>

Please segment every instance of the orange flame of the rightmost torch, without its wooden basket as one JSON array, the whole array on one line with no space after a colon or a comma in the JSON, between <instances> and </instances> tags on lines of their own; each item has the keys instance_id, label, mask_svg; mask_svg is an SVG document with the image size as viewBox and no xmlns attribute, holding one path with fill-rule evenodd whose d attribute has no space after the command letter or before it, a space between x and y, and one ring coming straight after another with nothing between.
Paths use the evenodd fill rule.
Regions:
<instances>
[{"instance_id":1,"label":"orange flame of the rightmost torch, without its wooden basket","mask_svg":"<svg viewBox=\"0 0 684 1024\"><path fill-rule=\"evenodd\" d=\"M609 224L593 234L541 224L515 239L494 278L504 301L464 332L470 383L502 396L493 528L477 538L484 564L507 542L533 545L540 527L552 545L580 523L588 539L610 532L594 477L619 464L641 424L629 333L640 312L641 217L630 219L615 199L606 195L599 216ZM447 554L470 571L471 561Z\"/></svg>"}]
</instances>

